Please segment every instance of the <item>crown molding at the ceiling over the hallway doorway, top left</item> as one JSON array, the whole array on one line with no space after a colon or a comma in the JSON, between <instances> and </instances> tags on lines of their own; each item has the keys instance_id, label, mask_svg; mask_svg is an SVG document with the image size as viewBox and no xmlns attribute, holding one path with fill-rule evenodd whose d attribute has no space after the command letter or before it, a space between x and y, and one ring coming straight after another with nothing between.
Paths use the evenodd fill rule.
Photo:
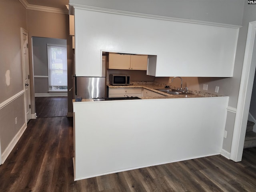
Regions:
<instances>
[{"instance_id":1,"label":"crown molding at the ceiling over the hallway doorway, top left","mask_svg":"<svg viewBox=\"0 0 256 192\"><path fill-rule=\"evenodd\" d=\"M29 10L36 10L36 11L45 11L45 12L52 12L52 13L60 13L60 14L68 14L67 9L59 9L53 7L46 7L46 6L39 6L39 5L30 5L26 0L19 0L20 3Z\"/></svg>"}]
</instances>

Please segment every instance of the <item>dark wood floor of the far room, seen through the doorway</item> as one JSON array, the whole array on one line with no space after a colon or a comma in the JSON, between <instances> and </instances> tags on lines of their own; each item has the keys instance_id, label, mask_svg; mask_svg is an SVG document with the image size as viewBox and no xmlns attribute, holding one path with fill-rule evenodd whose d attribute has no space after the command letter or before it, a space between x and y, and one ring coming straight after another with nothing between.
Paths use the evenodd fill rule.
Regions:
<instances>
[{"instance_id":1,"label":"dark wood floor of the far room, seen through the doorway","mask_svg":"<svg viewBox=\"0 0 256 192\"><path fill-rule=\"evenodd\" d=\"M68 97L35 97L36 116L60 117L68 112Z\"/></svg>"}]
</instances>

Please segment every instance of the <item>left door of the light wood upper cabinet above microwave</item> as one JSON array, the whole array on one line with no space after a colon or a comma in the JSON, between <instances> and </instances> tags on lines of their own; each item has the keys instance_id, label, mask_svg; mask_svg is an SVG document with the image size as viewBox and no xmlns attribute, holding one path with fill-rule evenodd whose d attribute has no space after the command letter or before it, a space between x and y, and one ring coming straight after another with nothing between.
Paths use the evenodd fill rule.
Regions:
<instances>
[{"instance_id":1,"label":"left door of the light wood upper cabinet above microwave","mask_svg":"<svg viewBox=\"0 0 256 192\"><path fill-rule=\"evenodd\" d=\"M108 56L108 68L109 69L130 69L131 56L112 54Z\"/></svg>"}]
</instances>

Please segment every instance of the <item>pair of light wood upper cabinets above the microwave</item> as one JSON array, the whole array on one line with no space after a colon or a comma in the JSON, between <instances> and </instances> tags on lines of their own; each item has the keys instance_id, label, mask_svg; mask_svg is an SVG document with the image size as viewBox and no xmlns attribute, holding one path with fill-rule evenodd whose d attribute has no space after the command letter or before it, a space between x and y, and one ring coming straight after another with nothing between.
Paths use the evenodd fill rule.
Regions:
<instances>
[{"instance_id":1,"label":"pair of light wood upper cabinets above the microwave","mask_svg":"<svg viewBox=\"0 0 256 192\"><path fill-rule=\"evenodd\" d=\"M147 70L147 67L147 55L109 54L109 69Z\"/></svg>"}]
</instances>

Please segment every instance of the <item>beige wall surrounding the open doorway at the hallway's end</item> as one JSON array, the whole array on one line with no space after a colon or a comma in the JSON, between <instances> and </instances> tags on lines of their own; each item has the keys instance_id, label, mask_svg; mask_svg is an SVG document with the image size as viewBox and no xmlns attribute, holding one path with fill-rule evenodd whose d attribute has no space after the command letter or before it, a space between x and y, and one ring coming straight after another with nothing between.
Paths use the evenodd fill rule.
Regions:
<instances>
[{"instance_id":1,"label":"beige wall surrounding the open doorway at the hallway's end","mask_svg":"<svg viewBox=\"0 0 256 192\"><path fill-rule=\"evenodd\" d=\"M43 12L36 10L27 10L27 22L28 22L28 36L29 36L29 61L30 61L30 74L33 74L32 66L32 36L35 37L47 37L47 38L59 38L67 40L67 51L68 51L68 90L72 88L72 37L69 35L69 16L67 14L58 14L51 12ZM33 79L31 78L30 81ZM34 85L34 82L30 82ZM72 112L72 98L73 90L68 92L68 112ZM34 101L34 87L31 87L31 109L32 114L35 111Z\"/></svg>"}]
</instances>

